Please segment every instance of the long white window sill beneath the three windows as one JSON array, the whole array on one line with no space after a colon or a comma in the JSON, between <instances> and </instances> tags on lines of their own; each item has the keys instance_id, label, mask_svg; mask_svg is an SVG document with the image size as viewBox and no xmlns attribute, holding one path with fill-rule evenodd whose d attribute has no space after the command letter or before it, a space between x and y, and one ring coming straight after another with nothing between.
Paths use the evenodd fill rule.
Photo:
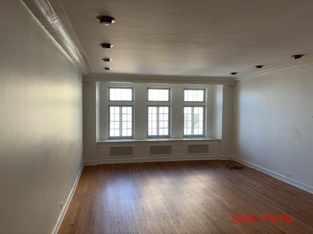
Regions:
<instances>
[{"instance_id":1,"label":"long white window sill beneath the three windows","mask_svg":"<svg viewBox=\"0 0 313 234\"><path fill-rule=\"evenodd\" d=\"M97 144L101 143L122 143L122 142L156 142L156 141L202 141L202 140L221 140L218 138L207 137L188 137L188 138L147 138L147 139L109 139L97 141Z\"/></svg>"}]
</instances>

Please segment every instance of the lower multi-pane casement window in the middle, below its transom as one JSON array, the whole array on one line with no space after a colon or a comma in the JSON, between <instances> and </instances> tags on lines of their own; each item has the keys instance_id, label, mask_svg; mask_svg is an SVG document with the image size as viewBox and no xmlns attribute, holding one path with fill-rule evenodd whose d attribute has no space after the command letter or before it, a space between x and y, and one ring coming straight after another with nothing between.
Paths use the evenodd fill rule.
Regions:
<instances>
[{"instance_id":1,"label":"lower multi-pane casement window in the middle, below its transom","mask_svg":"<svg viewBox=\"0 0 313 234\"><path fill-rule=\"evenodd\" d=\"M169 137L169 106L148 106L148 137Z\"/></svg>"}]
</instances>

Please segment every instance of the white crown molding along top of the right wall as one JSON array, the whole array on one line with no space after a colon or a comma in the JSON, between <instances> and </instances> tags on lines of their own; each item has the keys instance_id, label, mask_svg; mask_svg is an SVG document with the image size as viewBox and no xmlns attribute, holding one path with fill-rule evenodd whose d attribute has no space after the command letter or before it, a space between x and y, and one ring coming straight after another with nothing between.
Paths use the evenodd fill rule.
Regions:
<instances>
[{"instance_id":1,"label":"white crown molding along top of the right wall","mask_svg":"<svg viewBox=\"0 0 313 234\"><path fill-rule=\"evenodd\" d=\"M263 77L263 76L267 76L267 75L274 74L274 73L286 72L286 71L291 71L291 70L296 70L296 69L301 69L301 68L311 67L311 66L313 66L313 59L301 61L301 62L294 62L294 63L290 63L287 65L263 70L261 72L250 73L248 75L235 78L235 80L238 81L238 80L251 79L251 78L256 78L256 77Z\"/></svg>"}]
</instances>

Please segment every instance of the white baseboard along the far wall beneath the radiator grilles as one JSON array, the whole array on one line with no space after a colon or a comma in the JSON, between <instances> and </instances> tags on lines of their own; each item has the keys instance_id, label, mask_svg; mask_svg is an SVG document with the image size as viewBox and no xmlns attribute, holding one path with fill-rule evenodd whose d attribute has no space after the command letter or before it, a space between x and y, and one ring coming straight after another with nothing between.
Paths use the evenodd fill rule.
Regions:
<instances>
[{"instance_id":1,"label":"white baseboard along the far wall beneath the radiator grilles","mask_svg":"<svg viewBox=\"0 0 313 234\"><path fill-rule=\"evenodd\" d=\"M223 158L223 159L222 159ZM134 162L168 162L168 161L192 161L192 160L228 160L231 156L156 156L156 157L130 157L130 158L100 158L98 160L85 161L85 166L113 163L134 163Z\"/></svg>"}]
</instances>

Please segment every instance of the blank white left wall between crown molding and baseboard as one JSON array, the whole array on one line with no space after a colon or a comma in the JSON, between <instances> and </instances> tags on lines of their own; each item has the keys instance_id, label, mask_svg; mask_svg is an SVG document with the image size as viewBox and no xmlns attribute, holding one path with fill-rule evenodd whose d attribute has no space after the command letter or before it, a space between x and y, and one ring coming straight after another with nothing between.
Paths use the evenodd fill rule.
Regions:
<instances>
[{"instance_id":1,"label":"blank white left wall between crown molding and baseboard","mask_svg":"<svg viewBox=\"0 0 313 234\"><path fill-rule=\"evenodd\" d=\"M82 77L19 0L0 32L0 233L50 234L82 165Z\"/></svg>"}]
</instances>

